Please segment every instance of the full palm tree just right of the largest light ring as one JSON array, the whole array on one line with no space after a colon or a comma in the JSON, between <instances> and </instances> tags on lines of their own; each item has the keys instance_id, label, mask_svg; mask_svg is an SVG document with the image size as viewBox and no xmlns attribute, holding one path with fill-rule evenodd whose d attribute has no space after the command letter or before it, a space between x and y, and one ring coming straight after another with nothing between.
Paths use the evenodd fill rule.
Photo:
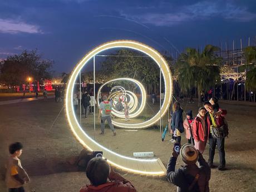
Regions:
<instances>
[{"instance_id":1,"label":"full palm tree just right of the largest light ring","mask_svg":"<svg viewBox=\"0 0 256 192\"><path fill-rule=\"evenodd\" d=\"M179 84L181 91L193 87L198 91L198 105L200 105L200 92L220 80L220 69L218 63L221 58L214 55L219 48L206 45L203 52L195 48L187 48L186 53L181 53L176 67L178 68Z\"/></svg>"}]
</instances>

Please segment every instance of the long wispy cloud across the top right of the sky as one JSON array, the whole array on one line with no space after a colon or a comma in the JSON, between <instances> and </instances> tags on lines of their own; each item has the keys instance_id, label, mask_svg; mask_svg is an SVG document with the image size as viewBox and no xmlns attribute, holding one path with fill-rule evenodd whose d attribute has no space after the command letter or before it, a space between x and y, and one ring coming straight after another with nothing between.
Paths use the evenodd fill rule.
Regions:
<instances>
[{"instance_id":1,"label":"long wispy cloud across the top right of the sky","mask_svg":"<svg viewBox=\"0 0 256 192\"><path fill-rule=\"evenodd\" d=\"M162 8L165 9L164 7ZM249 22L256 19L256 13L249 12L247 7L238 7L223 1L201 1L189 6L178 7L173 11L170 8L168 13L159 13L160 9L157 8L156 12L133 14L132 16L125 13L121 15L134 19L137 22L153 24L155 26L173 26L182 22L204 21L213 17L233 20L235 22Z\"/></svg>"}]
</instances>

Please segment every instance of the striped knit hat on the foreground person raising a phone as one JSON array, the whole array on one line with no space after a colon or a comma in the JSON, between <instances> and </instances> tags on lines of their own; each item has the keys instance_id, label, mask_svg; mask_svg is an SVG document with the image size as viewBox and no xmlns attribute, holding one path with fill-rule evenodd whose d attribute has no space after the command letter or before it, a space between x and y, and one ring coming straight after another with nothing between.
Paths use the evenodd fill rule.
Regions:
<instances>
[{"instance_id":1,"label":"striped knit hat on the foreground person raising a phone","mask_svg":"<svg viewBox=\"0 0 256 192\"><path fill-rule=\"evenodd\" d=\"M198 150L193 145L185 144L181 147L180 151L181 160L186 165L192 165L198 161Z\"/></svg>"}]
</instances>

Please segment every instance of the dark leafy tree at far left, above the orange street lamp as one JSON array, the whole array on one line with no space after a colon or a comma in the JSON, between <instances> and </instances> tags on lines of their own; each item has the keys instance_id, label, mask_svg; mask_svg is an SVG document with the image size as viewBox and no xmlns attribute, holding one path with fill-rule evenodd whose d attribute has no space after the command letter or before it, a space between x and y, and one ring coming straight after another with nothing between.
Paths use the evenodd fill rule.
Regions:
<instances>
[{"instance_id":1,"label":"dark leafy tree at far left, above the orange street lamp","mask_svg":"<svg viewBox=\"0 0 256 192\"><path fill-rule=\"evenodd\" d=\"M15 86L26 83L28 77L40 83L45 79L51 78L51 67L53 61L42 60L37 50L23 51L20 55L7 57L2 61L0 71L0 82Z\"/></svg>"}]
</instances>

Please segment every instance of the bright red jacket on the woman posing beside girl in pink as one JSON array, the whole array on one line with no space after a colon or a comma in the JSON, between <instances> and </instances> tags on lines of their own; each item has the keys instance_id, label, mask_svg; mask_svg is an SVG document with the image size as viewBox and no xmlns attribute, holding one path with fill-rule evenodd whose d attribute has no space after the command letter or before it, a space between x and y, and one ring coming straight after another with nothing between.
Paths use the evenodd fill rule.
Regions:
<instances>
[{"instance_id":1,"label":"bright red jacket on the woman posing beside girl in pink","mask_svg":"<svg viewBox=\"0 0 256 192\"><path fill-rule=\"evenodd\" d=\"M205 124L205 133L203 129L203 124L201 123L200 117L196 116L193 122L193 138L195 141L205 141L209 136L208 126ZM206 134L206 135L205 135Z\"/></svg>"}]
</instances>

